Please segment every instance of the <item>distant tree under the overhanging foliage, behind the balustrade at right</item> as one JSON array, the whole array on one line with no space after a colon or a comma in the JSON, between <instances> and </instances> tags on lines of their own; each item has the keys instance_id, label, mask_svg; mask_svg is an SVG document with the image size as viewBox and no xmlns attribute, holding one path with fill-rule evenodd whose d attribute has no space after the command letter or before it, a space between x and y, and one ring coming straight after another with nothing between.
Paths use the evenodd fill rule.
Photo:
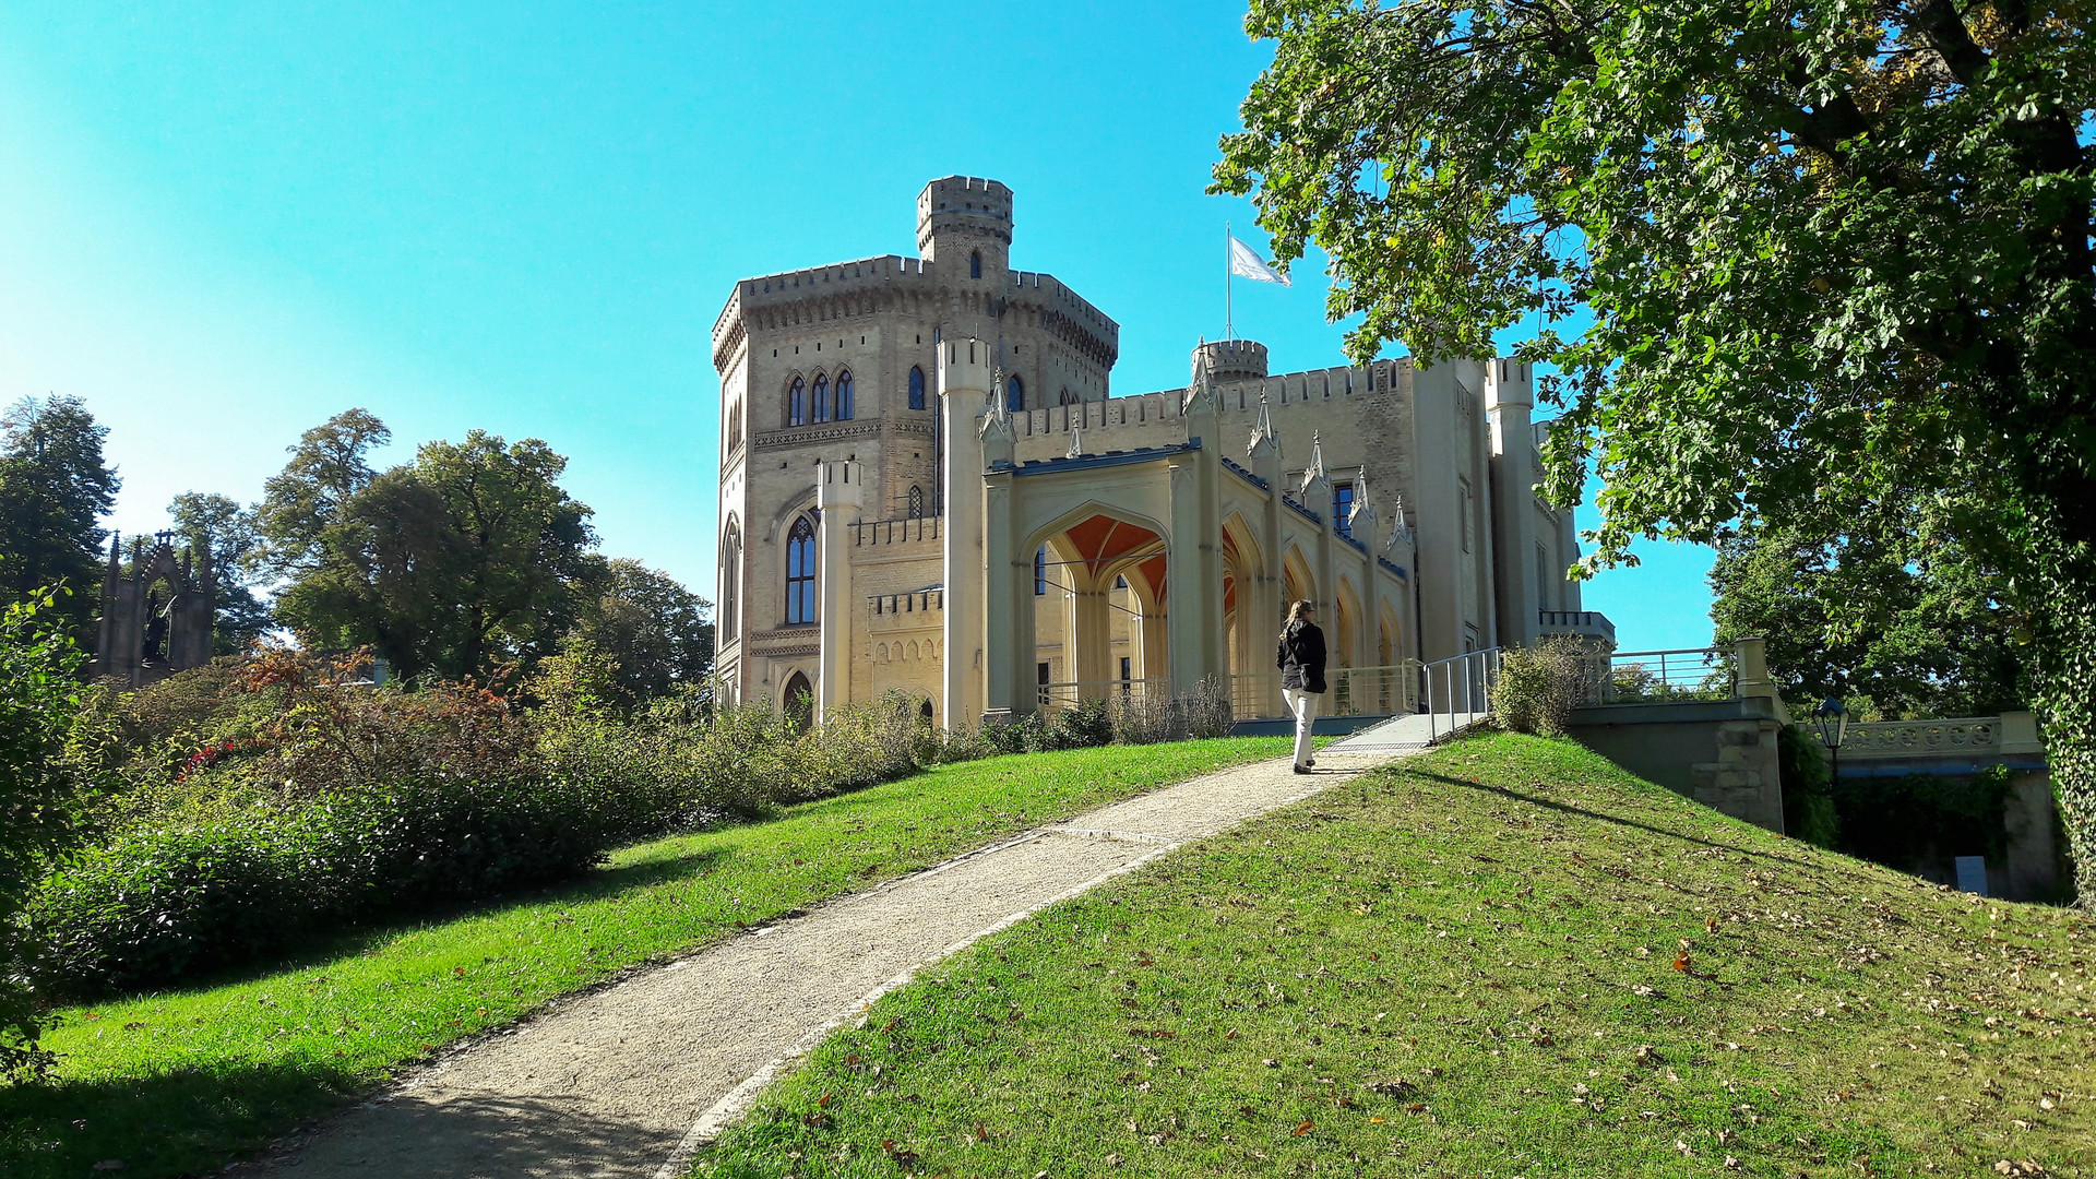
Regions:
<instances>
[{"instance_id":1,"label":"distant tree under the overhanging foliage, behind the balustrade at right","mask_svg":"<svg viewBox=\"0 0 2096 1179\"><path fill-rule=\"evenodd\" d=\"M1717 646L1767 640L1784 696L1842 696L1870 717L1993 715L2025 707L2021 621L1956 554L1901 562L1876 537L1763 527L1719 541Z\"/></svg>"}]
</instances>

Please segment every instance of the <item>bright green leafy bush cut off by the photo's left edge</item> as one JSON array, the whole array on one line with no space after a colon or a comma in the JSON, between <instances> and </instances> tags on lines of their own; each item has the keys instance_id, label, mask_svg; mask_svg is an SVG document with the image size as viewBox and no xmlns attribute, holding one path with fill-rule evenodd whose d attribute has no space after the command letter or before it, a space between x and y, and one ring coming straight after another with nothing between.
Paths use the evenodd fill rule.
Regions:
<instances>
[{"instance_id":1,"label":"bright green leafy bush cut off by the photo's left edge","mask_svg":"<svg viewBox=\"0 0 2096 1179\"><path fill-rule=\"evenodd\" d=\"M21 984L23 900L73 837L84 780L65 757L84 657L50 594L0 606L0 1080L38 1072L42 1020Z\"/></svg>"}]
</instances>

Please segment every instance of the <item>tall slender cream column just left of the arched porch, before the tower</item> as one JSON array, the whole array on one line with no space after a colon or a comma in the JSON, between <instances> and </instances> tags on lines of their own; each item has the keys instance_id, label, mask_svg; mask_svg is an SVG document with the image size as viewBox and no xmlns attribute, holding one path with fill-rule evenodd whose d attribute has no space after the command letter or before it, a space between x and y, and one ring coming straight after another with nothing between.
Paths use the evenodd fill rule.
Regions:
<instances>
[{"instance_id":1,"label":"tall slender cream column just left of the arched porch, before the tower","mask_svg":"<svg viewBox=\"0 0 2096 1179\"><path fill-rule=\"evenodd\" d=\"M952 340L939 346L939 413L945 430L945 636L939 644L939 715L954 730L983 715L983 432L989 401L989 344Z\"/></svg>"}]
</instances>

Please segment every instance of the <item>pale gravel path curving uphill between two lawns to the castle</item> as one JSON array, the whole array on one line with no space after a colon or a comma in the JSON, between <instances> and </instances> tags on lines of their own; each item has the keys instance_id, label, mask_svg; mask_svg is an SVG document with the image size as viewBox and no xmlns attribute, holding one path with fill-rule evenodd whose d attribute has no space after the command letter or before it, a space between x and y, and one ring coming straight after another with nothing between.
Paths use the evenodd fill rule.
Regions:
<instances>
[{"instance_id":1,"label":"pale gravel path curving uphill between two lawns to the castle","mask_svg":"<svg viewBox=\"0 0 2096 1179\"><path fill-rule=\"evenodd\" d=\"M1327 751L1163 787L713 944L432 1064L256 1171L662 1179L918 967L1188 839L1392 759Z\"/></svg>"}]
</instances>

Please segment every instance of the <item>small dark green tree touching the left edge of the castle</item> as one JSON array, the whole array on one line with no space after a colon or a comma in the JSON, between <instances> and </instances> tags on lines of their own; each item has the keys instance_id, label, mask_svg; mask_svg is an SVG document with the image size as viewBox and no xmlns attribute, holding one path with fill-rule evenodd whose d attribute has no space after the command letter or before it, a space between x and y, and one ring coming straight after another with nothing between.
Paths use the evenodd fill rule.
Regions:
<instances>
[{"instance_id":1,"label":"small dark green tree touching the left edge of the castle","mask_svg":"<svg viewBox=\"0 0 2096 1179\"><path fill-rule=\"evenodd\" d=\"M614 686L629 703L648 703L713 671L711 608L675 577L618 558L574 636L618 663Z\"/></svg>"}]
</instances>

